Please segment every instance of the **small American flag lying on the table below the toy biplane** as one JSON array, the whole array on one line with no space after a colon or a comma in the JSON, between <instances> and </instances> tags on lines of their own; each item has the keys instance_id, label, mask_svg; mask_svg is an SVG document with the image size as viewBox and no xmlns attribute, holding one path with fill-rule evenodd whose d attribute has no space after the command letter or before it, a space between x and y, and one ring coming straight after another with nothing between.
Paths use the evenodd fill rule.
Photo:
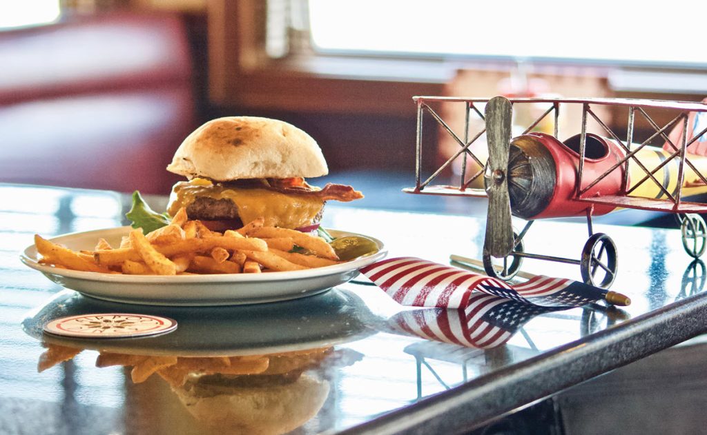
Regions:
<instances>
[{"instance_id":1,"label":"small American flag lying on the table below the toy biplane","mask_svg":"<svg viewBox=\"0 0 707 435\"><path fill-rule=\"evenodd\" d=\"M524 304L582 306L602 299L604 291L591 285L538 275L511 287L503 280L414 257L388 258L361 269L392 299L402 305L464 308L477 290Z\"/></svg>"}]
</instances>

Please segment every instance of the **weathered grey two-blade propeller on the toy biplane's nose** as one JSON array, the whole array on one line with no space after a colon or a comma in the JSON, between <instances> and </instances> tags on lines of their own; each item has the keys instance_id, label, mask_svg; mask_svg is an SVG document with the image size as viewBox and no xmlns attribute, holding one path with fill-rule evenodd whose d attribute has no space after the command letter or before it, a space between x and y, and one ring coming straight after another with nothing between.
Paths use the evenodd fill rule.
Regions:
<instances>
[{"instance_id":1,"label":"weathered grey two-blade propeller on the toy biplane's nose","mask_svg":"<svg viewBox=\"0 0 707 435\"><path fill-rule=\"evenodd\" d=\"M489 161L486 165L486 194L489 211L486 215L484 251L496 258L505 258L513 251L513 222L510 220L508 194L508 152L510 149L513 107L504 97L494 97L486 103L486 141Z\"/></svg>"}]
</instances>

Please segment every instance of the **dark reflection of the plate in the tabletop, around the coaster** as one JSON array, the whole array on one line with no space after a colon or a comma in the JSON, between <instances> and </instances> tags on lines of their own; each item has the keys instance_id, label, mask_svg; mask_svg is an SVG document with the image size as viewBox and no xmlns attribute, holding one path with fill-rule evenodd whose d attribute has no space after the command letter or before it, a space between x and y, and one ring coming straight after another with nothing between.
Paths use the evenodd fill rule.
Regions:
<instances>
[{"instance_id":1,"label":"dark reflection of the plate in the tabletop, around the coaster","mask_svg":"<svg viewBox=\"0 0 707 435\"><path fill-rule=\"evenodd\" d=\"M134 313L177 321L173 332L142 338L71 338L45 334L50 321L78 314ZM375 333L376 317L355 294L334 289L312 297L240 306L199 308L135 306L57 294L23 321L37 340L107 352L149 355L222 356L268 354L328 347Z\"/></svg>"}]
</instances>

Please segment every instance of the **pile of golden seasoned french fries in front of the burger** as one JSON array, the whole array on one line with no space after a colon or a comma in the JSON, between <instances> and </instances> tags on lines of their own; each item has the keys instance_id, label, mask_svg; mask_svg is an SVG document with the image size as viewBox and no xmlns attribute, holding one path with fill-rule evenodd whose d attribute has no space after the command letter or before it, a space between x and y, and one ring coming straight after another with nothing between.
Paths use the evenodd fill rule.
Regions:
<instances>
[{"instance_id":1,"label":"pile of golden seasoned french fries in front of the burger","mask_svg":"<svg viewBox=\"0 0 707 435\"><path fill-rule=\"evenodd\" d=\"M126 275L269 273L339 263L332 246L321 237L264 227L262 217L240 230L216 232L199 220L189 220L183 208L158 230L148 234L131 230L119 246L99 239L93 251L72 251L39 235L35 246L42 264ZM139 376L142 373L138 371Z\"/></svg>"}]
</instances>

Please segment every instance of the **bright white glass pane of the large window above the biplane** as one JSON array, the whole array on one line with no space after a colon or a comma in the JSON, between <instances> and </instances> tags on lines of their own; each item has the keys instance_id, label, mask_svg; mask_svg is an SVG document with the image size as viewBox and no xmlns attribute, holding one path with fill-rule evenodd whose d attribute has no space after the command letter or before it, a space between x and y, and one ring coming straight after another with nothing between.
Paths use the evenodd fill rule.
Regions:
<instances>
[{"instance_id":1,"label":"bright white glass pane of the large window above the biplane","mask_svg":"<svg viewBox=\"0 0 707 435\"><path fill-rule=\"evenodd\" d=\"M310 0L317 52L707 66L707 2Z\"/></svg>"}]
</instances>

